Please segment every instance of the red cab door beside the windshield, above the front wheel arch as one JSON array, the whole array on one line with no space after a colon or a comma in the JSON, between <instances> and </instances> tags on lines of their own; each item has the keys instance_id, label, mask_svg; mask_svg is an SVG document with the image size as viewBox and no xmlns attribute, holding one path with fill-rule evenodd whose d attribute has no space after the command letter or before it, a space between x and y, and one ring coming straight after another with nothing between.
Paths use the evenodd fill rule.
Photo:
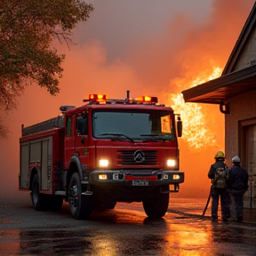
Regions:
<instances>
[{"instance_id":1,"label":"red cab door beside the windshield, above the front wheel arch","mask_svg":"<svg viewBox=\"0 0 256 256\"><path fill-rule=\"evenodd\" d=\"M76 132L75 132L75 153L79 157L81 164L88 165L88 114L76 114Z\"/></svg>"}]
</instances>

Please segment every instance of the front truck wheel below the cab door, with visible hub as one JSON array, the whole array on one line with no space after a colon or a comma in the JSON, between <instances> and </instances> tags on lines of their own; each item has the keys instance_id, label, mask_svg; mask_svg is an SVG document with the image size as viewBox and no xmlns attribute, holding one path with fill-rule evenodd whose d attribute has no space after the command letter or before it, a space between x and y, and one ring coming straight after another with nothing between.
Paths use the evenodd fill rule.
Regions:
<instances>
[{"instance_id":1,"label":"front truck wheel below the cab door, with visible hub","mask_svg":"<svg viewBox=\"0 0 256 256\"><path fill-rule=\"evenodd\" d=\"M82 195L82 186L77 172L73 173L68 187L68 203L75 219L89 218L92 214L92 196Z\"/></svg>"}]
</instances>

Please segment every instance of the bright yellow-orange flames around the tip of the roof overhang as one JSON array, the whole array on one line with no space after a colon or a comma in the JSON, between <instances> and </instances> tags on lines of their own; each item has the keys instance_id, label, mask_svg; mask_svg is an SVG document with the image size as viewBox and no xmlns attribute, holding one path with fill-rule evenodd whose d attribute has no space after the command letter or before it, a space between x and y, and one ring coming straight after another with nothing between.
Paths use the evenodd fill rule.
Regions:
<instances>
[{"instance_id":1,"label":"bright yellow-orange flames around the tip of the roof overhang","mask_svg":"<svg viewBox=\"0 0 256 256\"><path fill-rule=\"evenodd\" d=\"M210 73L208 72L207 74L207 72L204 72L204 74L197 76L193 81L179 79L176 80L175 83L178 83L177 85L179 85L179 90L181 92L188 89L188 87L194 87L197 84L203 84L204 82L219 77L221 68L213 68ZM209 124L210 118L206 118L206 108L204 108L202 104L197 103L185 104L181 93L171 93L169 97L171 100L170 105L175 113L179 113L182 117L182 140L188 141L188 147L193 150L200 150L201 148L216 145L216 131L212 128L212 124Z\"/></svg>"}]
</instances>

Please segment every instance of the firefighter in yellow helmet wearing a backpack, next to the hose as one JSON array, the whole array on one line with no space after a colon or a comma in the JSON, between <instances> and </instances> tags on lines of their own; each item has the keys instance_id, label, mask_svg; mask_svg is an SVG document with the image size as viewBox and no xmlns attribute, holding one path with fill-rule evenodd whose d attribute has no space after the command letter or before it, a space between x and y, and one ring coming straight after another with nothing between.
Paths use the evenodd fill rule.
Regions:
<instances>
[{"instance_id":1,"label":"firefighter in yellow helmet wearing a backpack, next to the hose","mask_svg":"<svg viewBox=\"0 0 256 256\"><path fill-rule=\"evenodd\" d=\"M217 186L217 173L218 170L222 169L227 173L228 166L225 162L225 154L222 151L218 151L214 157L215 163L211 165L210 170L208 172L208 178L212 180L211 187L211 196L212 196L212 221L218 220L218 206L219 206L219 197L220 197L220 206L221 206L221 219L228 220L230 218L230 210L229 210L229 200L228 200L228 188L227 184L221 188ZM227 170L227 171L226 171ZM227 178L227 177L226 177ZM225 180L227 181L227 179ZM222 184L223 185L223 184Z\"/></svg>"}]
</instances>

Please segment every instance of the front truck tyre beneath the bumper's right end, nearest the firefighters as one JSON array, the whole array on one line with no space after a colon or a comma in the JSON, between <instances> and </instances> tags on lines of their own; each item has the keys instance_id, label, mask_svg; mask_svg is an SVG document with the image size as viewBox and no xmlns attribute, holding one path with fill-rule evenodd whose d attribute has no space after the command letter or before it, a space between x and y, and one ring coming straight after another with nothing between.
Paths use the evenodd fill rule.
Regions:
<instances>
[{"instance_id":1,"label":"front truck tyre beneath the bumper's right end, nearest the firefighters","mask_svg":"<svg viewBox=\"0 0 256 256\"><path fill-rule=\"evenodd\" d=\"M159 193L159 192L158 192ZM167 212L169 193L160 194L142 202L145 213L149 218L161 218Z\"/></svg>"}]
</instances>

